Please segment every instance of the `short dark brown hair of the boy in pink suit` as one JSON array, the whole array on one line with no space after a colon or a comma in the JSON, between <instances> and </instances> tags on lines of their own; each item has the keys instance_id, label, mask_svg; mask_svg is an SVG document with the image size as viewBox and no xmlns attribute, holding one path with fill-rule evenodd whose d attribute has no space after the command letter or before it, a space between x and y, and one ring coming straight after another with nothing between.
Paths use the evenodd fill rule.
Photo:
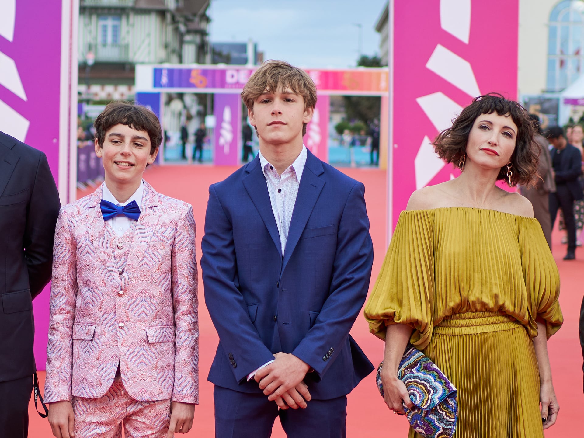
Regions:
<instances>
[{"instance_id":1,"label":"short dark brown hair of the boy in pink suit","mask_svg":"<svg viewBox=\"0 0 584 438\"><path fill-rule=\"evenodd\" d=\"M117 124L129 126L137 131L145 131L150 137L150 154L162 143L162 128L156 114L145 106L134 105L124 100L114 100L93 122L95 138L99 147L103 147L106 133Z\"/></svg>"}]
</instances>

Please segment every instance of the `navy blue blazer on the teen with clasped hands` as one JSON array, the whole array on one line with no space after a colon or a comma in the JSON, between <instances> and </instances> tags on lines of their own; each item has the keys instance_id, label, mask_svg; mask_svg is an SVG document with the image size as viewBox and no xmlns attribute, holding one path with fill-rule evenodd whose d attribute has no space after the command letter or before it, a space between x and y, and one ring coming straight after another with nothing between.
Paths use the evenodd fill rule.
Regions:
<instances>
[{"instance_id":1,"label":"navy blue blazer on the teen with clasped hands","mask_svg":"<svg viewBox=\"0 0 584 438\"><path fill-rule=\"evenodd\" d=\"M261 392L246 376L293 353L314 369L312 398L330 399L373 371L349 336L373 263L364 190L308 151L282 257L259 157L209 187L201 268L220 342L208 380Z\"/></svg>"}]
</instances>

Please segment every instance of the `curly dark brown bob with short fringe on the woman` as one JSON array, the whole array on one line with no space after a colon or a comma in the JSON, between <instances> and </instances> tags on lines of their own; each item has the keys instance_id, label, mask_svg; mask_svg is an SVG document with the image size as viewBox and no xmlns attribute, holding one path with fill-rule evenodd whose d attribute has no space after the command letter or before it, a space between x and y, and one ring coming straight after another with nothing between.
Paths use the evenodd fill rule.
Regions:
<instances>
[{"instance_id":1,"label":"curly dark brown bob with short fringe on the woman","mask_svg":"<svg viewBox=\"0 0 584 438\"><path fill-rule=\"evenodd\" d=\"M436 140L432 143L434 151L444 161L453 163L455 166L460 165L461 159L466 154L468 134L470 134L475 120L481 114L494 112L499 116L510 114L518 130L515 150L510 159L513 165L511 186L519 184L530 187L535 185L539 153L533 141L535 133L533 121L523 106L515 100L505 99L499 93L489 93L472 99L472 103L462 110L453 121L452 126L437 135ZM497 179L507 181L506 166L501 168Z\"/></svg>"}]
</instances>

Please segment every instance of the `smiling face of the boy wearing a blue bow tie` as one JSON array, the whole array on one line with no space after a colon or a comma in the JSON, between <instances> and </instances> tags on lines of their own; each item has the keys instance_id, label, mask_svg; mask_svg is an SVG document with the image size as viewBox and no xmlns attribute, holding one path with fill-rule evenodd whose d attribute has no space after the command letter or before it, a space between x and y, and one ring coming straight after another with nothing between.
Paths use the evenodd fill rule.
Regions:
<instances>
[{"instance_id":1,"label":"smiling face of the boy wearing a blue bow tie","mask_svg":"<svg viewBox=\"0 0 584 438\"><path fill-rule=\"evenodd\" d=\"M142 179L148 164L152 164L158 148L150 153L150 135L123 124L110 128L105 135L102 147L95 140L95 153L103 158L106 182L114 184L133 184Z\"/></svg>"}]
</instances>

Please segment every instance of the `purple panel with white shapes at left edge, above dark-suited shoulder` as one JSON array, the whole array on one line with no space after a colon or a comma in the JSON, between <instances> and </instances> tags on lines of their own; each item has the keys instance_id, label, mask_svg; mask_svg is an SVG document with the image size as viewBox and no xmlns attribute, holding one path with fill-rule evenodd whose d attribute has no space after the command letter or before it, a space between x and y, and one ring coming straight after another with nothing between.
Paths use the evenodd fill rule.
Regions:
<instances>
[{"instance_id":1,"label":"purple panel with white shapes at left edge, above dark-suited shoulder","mask_svg":"<svg viewBox=\"0 0 584 438\"><path fill-rule=\"evenodd\" d=\"M59 164L61 2L8 1L0 25L0 130ZM12 13L13 12L13 13ZM34 32L31 32L34 29ZM46 333L45 333L46 336Z\"/></svg>"}]
</instances>

